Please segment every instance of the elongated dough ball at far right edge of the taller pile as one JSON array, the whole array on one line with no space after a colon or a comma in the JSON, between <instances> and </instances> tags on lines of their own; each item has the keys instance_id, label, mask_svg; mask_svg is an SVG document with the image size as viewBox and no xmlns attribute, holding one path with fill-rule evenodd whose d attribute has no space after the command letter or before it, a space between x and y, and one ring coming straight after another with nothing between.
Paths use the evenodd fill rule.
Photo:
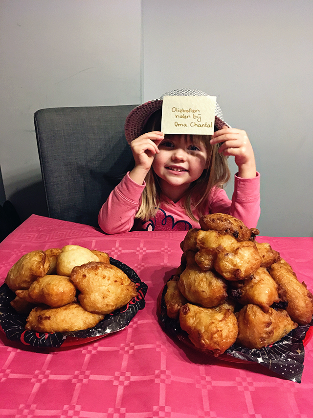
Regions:
<instances>
[{"instance_id":1,"label":"elongated dough ball at far right edge of the taller pile","mask_svg":"<svg viewBox=\"0 0 313 418\"><path fill-rule=\"evenodd\" d=\"M292 320L298 324L308 324L313 315L313 295L308 291L305 283L300 283L291 266L285 260L274 263L269 273L288 301L286 308Z\"/></svg>"}]
</instances>

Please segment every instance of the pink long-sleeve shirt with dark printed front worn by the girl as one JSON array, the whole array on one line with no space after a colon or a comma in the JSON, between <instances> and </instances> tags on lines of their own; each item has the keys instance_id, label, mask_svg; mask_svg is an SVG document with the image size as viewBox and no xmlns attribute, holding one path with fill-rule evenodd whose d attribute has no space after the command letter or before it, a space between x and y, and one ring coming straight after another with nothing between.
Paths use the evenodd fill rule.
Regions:
<instances>
[{"instance_id":1,"label":"pink long-sleeve shirt with dark printed front worn by the girl","mask_svg":"<svg viewBox=\"0 0 313 418\"><path fill-rule=\"evenodd\" d=\"M174 203L164 198L156 216L148 221L135 221L145 183L139 185L129 176L115 187L102 206L98 222L107 234L118 234L132 230L168 231L200 228L186 214L182 200ZM248 228L256 227L260 217L260 174L254 178L235 175L234 193L231 200L224 189L214 187L207 200L205 214L226 213L240 219ZM134 222L135 221L135 222Z\"/></svg>"}]
</instances>

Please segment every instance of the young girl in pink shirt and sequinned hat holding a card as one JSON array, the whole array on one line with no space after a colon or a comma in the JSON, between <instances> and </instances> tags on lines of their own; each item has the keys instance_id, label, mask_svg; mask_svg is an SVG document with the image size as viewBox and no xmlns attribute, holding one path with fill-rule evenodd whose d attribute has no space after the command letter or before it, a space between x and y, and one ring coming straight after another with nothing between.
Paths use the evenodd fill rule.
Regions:
<instances>
[{"instance_id":1,"label":"young girl in pink shirt and sequinned hat holding a card","mask_svg":"<svg viewBox=\"0 0 313 418\"><path fill-rule=\"evenodd\" d=\"M172 90L163 96L206 96L199 90ZM230 128L216 106L214 135L168 135L161 130L162 98L137 106L125 134L135 166L102 206L98 221L107 234L130 230L188 230L199 219L226 213L256 227L260 216L260 175L245 131ZM227 157L238 166L229 200L223 185Z\"/></svg>"}]
</instances>

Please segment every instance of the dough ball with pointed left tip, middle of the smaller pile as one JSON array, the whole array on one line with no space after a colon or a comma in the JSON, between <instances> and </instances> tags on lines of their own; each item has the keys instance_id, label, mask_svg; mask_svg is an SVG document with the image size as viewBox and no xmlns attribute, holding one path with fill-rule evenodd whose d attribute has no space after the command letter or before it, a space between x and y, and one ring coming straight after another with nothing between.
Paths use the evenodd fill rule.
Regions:
<instances>
[{"instance_id":1,"label":"dough ball with pointed left tip, middle of the smaller pile","mask_svg":"<svg viewBox=\"0 0 313 418\"><path fill-rule=\"evenodd\" d=\"M59 308L73 302L76 288L67 276L49 274L39 277L27 290L17 290L16 295L30 303Z\"/></svg>"}]
</instances>

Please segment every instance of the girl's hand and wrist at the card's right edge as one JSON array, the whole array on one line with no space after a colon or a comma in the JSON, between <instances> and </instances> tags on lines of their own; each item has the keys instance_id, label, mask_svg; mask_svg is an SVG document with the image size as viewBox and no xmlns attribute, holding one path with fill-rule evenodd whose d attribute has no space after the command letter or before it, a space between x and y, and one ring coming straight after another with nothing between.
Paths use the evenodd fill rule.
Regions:
<instances>
[{"instance_id":1,"label":"girl's hand and wrist at the card's right edge","mask_svg":"<svg viewBox=\"0 0 313 418\"><path fill-rule=\"evenodd\" d=\"M235 157L239 177L252 178L256 176L254 152L246 131L224 127L214 132L210 144L221 144L220 153Z\"/></svg>"}]
</instances>

